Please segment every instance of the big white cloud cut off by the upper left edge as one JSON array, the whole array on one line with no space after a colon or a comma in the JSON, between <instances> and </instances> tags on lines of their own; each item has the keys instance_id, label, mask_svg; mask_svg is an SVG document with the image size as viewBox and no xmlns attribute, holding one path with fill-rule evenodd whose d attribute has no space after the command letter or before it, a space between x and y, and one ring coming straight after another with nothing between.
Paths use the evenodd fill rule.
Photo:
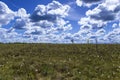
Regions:
<instances>
[{"instance_id":1,"label":"big white cloud cut off by the upper left edge","mask_svg":"<svg viewBox=\"0 0 120 80\"><path fill-rule=\"evenodd\" d=\"M8 6L0 1L0 26L8 24L15 17L15 12L8 8Z\"/></svg>"}]
</instances>

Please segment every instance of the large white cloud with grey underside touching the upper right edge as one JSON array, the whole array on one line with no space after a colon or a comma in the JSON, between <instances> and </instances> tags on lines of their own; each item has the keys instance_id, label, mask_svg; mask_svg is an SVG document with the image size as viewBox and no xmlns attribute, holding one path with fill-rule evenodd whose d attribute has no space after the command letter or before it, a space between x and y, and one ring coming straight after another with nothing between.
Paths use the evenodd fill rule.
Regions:
<instances>
[{"instance_id":1,"label":"large white cloud with grey underside touching the upper right edge","mask_svg":"<svg viewBox=\"0 0 120 80\"><path fill-rule=\"evenodd\" d=\"M119 0L106 0L93 10L88 10L86 15L95 20L113 21L119 17L117 16L120 12L119 6Z\"/></svg>"}]
</instances>

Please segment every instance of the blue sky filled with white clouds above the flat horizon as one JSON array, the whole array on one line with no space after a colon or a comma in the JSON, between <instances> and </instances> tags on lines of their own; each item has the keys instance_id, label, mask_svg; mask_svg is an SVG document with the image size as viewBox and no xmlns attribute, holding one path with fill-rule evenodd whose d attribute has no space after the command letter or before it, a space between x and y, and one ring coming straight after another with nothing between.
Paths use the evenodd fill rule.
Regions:
<instances>
[{"instance_id":1,"label":"blue sky filled with white clouds above the flat horizon","mask_svg":"<svg viewBox=\"0 0 120 80\"><path fill-rule=\"evenodd\" d=\"M0 0L2 43L120 44L120 0Z\"/></svg>"}]
</instances>

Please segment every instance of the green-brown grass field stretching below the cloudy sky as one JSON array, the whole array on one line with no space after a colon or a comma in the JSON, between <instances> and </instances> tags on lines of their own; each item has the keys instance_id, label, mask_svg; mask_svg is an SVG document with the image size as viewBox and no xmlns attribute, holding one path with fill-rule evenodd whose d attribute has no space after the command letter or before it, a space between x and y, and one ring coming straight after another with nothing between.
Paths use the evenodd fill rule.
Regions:
<instances>
[{"instance_id":1,"label":"green-brown grass field stretching below the cloudy sky","mask_svg":"<svg viewBox=\"0 0 120 80\"><path fill-rule=\"evenodd\" d=\"M120 80L120 45L0 44L0 80Z\"/></svg>"}]
</instances>

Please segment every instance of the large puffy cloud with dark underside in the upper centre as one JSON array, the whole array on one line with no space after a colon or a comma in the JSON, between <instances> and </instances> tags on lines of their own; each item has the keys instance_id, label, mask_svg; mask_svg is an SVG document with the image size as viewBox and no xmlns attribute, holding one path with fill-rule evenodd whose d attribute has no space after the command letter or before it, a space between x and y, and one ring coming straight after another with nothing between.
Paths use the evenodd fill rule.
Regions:
<instances>
[{"instance_id":1,"label":"large puffy cloud with dark underside in the upper centre","mask_svg":"<svg viewBox=\"0 0 120 80\"><path fill-rule=\"evenodd\" d=\"M38 5L35 8L35 11L30 16L33 22L37 22L40 20L48 20L54 22L57 18L64 18L68 15L68 11L70 6L62 5L57 1L53 1L46 5Z\"/></svg>"}]
</instances>

